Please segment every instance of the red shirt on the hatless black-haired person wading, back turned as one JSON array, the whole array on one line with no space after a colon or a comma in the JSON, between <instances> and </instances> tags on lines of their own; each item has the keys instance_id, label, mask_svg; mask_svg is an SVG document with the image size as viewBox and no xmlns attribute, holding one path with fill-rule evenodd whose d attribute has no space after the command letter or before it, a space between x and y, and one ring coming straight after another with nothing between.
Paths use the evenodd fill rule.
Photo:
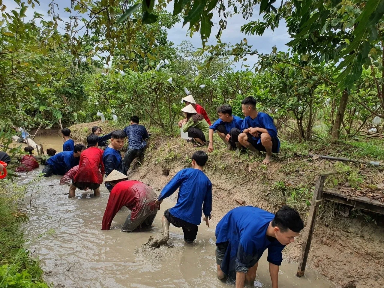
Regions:
<instances>
[{"instance_id":1,"label":"red shirt on the hatless black-haired person wading, back turned","mask_svg":"<svg viewBox=\"0 0 384 288\"><path fill-rule=\"evenodd\" d=\"M100 168L100 170L99 170ZM103 183L104 164L103 150L89 147L81 152L79 170L73 177L73 182Z\"/></svg>"}]
</instances>

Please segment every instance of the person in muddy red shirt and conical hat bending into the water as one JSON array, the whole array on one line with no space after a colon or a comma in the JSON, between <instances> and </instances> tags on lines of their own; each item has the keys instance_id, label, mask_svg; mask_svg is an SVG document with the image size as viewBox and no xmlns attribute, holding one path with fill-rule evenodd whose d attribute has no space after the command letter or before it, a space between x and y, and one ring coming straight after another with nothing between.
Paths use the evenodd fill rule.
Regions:
<instances>
[{"instance_id":1,"label":"person in muddy red shirt and conical hat bending into the water","mask_svg":"<svg viewBox=\"0 0 384 288\"><path fill-rule=\"evenodd\" d=\"M101 230L111 228L113 218L123 206L131 212L121 227L122 232L151 227L159 210L159 205L155 203L157 194L151 187L136 180L128 180L127 175L118 170L113 170L104 181L111 184L113 188L109 194Z\"/></svg>"}]
</instances>

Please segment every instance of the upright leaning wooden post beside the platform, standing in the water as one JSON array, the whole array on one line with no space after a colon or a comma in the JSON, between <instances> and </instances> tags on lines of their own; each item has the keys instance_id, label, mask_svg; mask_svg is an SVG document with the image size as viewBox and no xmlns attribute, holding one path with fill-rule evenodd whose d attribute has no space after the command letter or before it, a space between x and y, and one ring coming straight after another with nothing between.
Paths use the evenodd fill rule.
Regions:
<instances>
[{"instance_id":1,"label":"upright leaning wooden post beside the platform, standing in the water","mask_svg":"<svg viewBox=\"0 0 384 288\"><path fill-rule=\"evenodd\" d=\"M301 251L300 264L297 269L296 276L301 277L304 275L305 266L307 264L308 254L311 248L311 241L313 236L314 227L316 225L317 212L319 209L319 200L322 199L323 187L326 179L326 175L320 175L316 181L316 185L313 192L312 203L310 208L310 214L306 223L305 236L303 241L303 248Z\"/></svg>"}]
</instances>

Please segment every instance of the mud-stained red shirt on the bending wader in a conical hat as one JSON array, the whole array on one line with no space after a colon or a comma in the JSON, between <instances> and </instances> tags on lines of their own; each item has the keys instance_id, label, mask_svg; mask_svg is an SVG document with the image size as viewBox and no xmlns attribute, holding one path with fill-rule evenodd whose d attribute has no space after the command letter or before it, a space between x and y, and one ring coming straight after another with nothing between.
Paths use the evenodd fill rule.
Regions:
<instances>
[{"instance_id":1,"label":"mud-stained red shirt on the bending wader in a conical hat","mask_svg":"<svg viewBox=\"0 0 384 288\"><path fill-rule=\"evenodd\" d=\"M147 184L136 180L119 182L109 194L101 230L109 230L113 218L123 206L132 211L132 221L144 213L152 213L155 209L156 199L157 194Z\"/></svg>"}]
</instances>

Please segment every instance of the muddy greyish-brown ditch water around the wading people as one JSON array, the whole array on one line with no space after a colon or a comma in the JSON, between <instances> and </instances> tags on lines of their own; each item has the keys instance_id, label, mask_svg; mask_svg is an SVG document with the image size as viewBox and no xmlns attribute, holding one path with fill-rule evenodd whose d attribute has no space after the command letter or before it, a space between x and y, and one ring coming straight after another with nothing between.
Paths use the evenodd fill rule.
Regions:
<instances>
[{"instance_id":1,"label":"muddy greyish-brown ditch water around the wading people","mask_svg":"<svg viewBox=\"0 0 384 288\"><path fill-rule=\"evenodd\" d=\"M35 170L21 177L26 182L38 174ZM59 186L57 176L43 179L30 187L25 205L31 206L30 222L25 227L30 235L31 251L41 260L45 279L65 287L183 287L229 288L215 277L215 230L199 226L194 245L183 242L182 230L170 227L171 247L152 252L137 252L150 235L161 231L162 212L173 203L163 202L151 230L123 233L120 227L128 210L118 212L111 230L101 231L101 221L109 193L102 185L101 197L68 199L68 187ZM32 189L33 188L33 189ZM214 226L214 225L212 225ZM40 236L40 237L39 237ZM266 253L265 253L266 254ZM257 287L271 287L266 255L257 271ZM283 263L280 288L334 287L312 271L295 276L297 264Z\"/></svg>"}]
</instances>

